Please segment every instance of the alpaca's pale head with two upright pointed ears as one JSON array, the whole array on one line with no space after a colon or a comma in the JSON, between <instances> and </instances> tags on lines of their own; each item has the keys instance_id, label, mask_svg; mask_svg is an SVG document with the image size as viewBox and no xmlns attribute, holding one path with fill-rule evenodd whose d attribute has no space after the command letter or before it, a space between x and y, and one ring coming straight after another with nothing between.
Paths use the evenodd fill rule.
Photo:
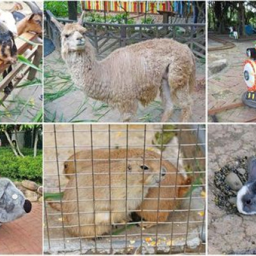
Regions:
<instances>
[{"instance_id":1,"label":"alpaca's pale head with two upright pointed ears","mask_svg":"<svg viewBox=\"0 0 256 256\"><path fill-rule=\"evenodd\" d=\"M83 27L84 12L77 23L68 23L65 26L52 18L52 22L61 31L61 52L62 56L68 52L84 51L86 46L85 32Z\"/></svg>"}]
</instances>

